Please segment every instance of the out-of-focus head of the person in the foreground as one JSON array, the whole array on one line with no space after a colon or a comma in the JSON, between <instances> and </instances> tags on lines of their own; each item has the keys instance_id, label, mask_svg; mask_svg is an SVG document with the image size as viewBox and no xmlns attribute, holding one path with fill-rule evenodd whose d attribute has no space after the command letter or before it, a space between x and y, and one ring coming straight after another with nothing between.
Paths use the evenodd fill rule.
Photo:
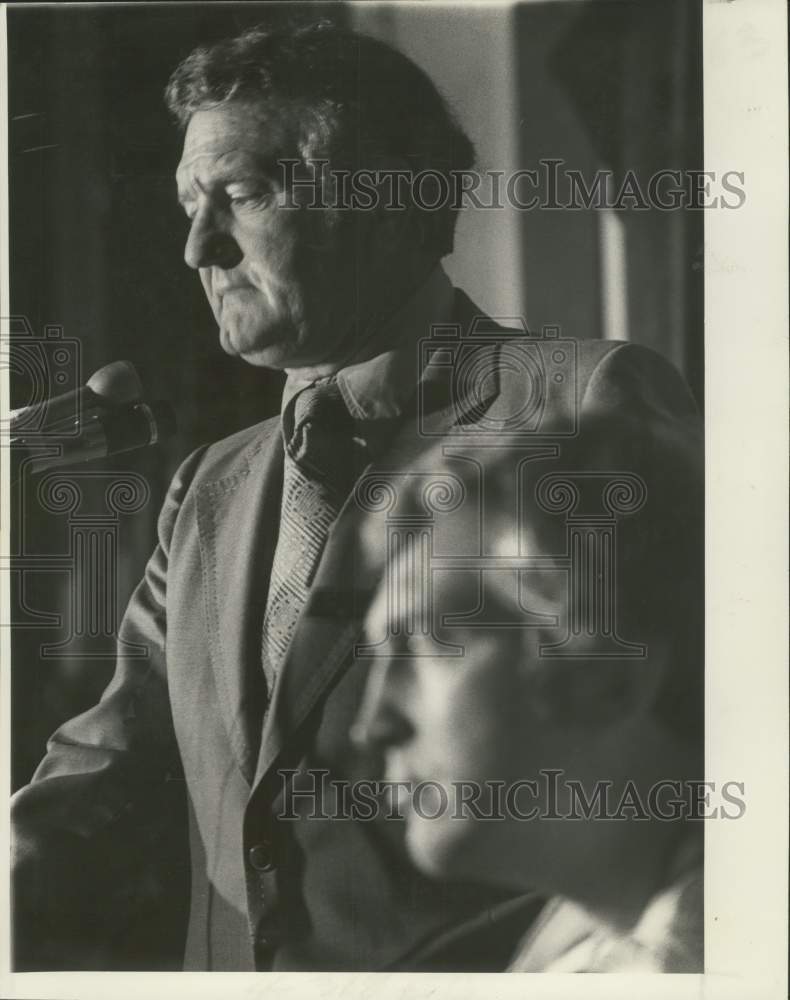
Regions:
<instances>
[{"instance_id":1,"label":"out-of-focus head of the person in the foreground","mask_svg":"<svg viewBox=\"0 0 790 1000\"><path fill-rule=\"evenodd\" d=\"M591 420L576 440L562 443L559 457L522 466L518 517L516 460L512 452L489 454L486 481L501 489L494 502L489 493L485 510L493 539L487 552L549 557L548 564L522 574L520 589L512 570L484 574L486 620L500 624L442 629L445 641L463 645L462 657L435 655L427 635L408 639L415 609L408 600L390 602L382 587L367 631L374 639L389 626L398 636L392 655L371 661L354 737L383 751L388 779L412 788L437 783L419 810L414 803L406 809L407 844L419 868L573 900L599 926L628 933L651 899L701 864L701 824L683 818L683 783L702 778L701 443L693 429ZM461 477L468 467L440 451L424 466ZM639 477L644 503L618 518L611 561L604 556L593 566L595 531L571 531L567 509L541 509L536 492L542 477L561 473L581 490L577 515L585 508L605 514L602 489L618 472ZM466 485L473 497L471 478ZM444 516L458 539L454 554L473 552L476 503ZM563 568L562 557L577 544L571 535L581 538L577 563L593 567L582 584ZM446 549L437 543L437 552ZM641 658L633 651L613 658L610 641L585 635L593 599L587 584L600 598L612 578L610 621L624 642L646 647ZM437 624L480 603L479 574L433 573ZM533 623L535 613L554 618L525 627L525 609ZM581 623L575 658L541 650L560 643L574 622ZM483 790L476 800L474 788ZM605 796L602 805L596 795ZM492 811L499 818L485 818Z\"/></svg>"}]
</instances>

